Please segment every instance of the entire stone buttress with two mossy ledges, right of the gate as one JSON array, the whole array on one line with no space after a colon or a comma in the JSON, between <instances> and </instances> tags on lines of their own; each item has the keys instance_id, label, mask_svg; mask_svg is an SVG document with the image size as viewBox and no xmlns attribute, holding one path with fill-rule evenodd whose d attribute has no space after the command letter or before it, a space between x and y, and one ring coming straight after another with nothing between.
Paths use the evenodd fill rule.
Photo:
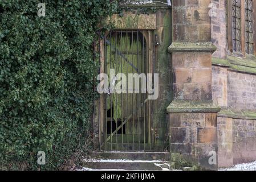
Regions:
<instances>
[{"instance_id":1,"label":"entire stone buttress with two mossy ledges, right of the gate","mask_svg":"<svg viewBox=\"0 0 256 182\"><path fill-rule=\"evenodd\" d=\"M170 151L201 167L217 152L217 113L212 101L210 1L173 1L172 53L174 100L168 106Z\"/></svg>"}]
</instances>

